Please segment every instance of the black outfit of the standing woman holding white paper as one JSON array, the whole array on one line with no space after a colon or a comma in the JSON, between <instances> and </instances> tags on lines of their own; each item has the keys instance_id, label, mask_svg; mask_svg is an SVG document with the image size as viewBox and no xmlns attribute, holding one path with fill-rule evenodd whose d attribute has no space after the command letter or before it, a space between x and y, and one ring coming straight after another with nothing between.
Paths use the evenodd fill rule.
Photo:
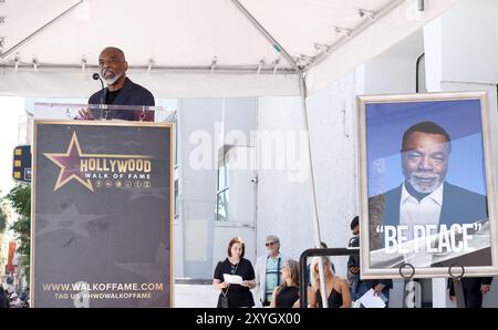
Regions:
<instances>
[{"instance_id":1,"label":"black outfit of the standing woman holding white paper","mask_svg":"<svg viewBox=\"0 0 498 330\"><path fill-rule=\"evenodd\" d=\"M237 269L236 269L237 267ZM232 265L228 258L224 261L218 262L215 269L215 279L224 281L224 274L238 275L242 280L253 280L255 269L252 268L251 261L241 258L238 266ZM240 285L230 285L224 292L227 291L228 307L252 307L255 306L255 300L252 299L252 293L247 287ZM221 293L220 293L221 295Z\"/></svg>"}]
</instances>

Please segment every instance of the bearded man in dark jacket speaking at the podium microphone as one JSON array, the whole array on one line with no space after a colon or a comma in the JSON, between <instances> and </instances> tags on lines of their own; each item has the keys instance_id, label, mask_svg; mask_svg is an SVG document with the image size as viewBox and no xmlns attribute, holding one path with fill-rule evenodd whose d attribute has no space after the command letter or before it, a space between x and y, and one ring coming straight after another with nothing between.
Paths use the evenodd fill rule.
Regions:
<instances>
[{"instance_id":1,"label":"bearded man in dark jacket speaking at the podium microphone","mask_svg":"<svg viewBox=\"0 0 498 330\"><path fill-rule=\"evenodd\" d=\"M89 99L89 104L154 106L154 95L145 87L126 76L128 63L124 52L114 47L105 48L98 56L101 76L107 87L100 90ZM92 112L80 112L83 118L93 118ZM138 120L132 111L108 111L105 118Z\"/></svg>"}]
</instances>

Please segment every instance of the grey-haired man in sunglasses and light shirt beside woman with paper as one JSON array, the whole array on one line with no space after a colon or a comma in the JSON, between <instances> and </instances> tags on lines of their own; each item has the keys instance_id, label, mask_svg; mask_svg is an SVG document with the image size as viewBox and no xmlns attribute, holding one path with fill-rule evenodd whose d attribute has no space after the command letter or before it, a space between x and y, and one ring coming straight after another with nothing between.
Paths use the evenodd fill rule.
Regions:
<instances>
[{"instance_id":1,"label":"grey-haired man in sunglasses and light shirt beside woman with paper","mask_svg":"<svg viewBox=\"0 0 498 330\"><path fill-rule=\"evenodd\" d=\"M286 257L280 254L280 239L268 235L264 240L267 254L256 260L256 290L263 307L270 306L273 289L282 282L281 274Z\"/></svg>"}]
</instances>

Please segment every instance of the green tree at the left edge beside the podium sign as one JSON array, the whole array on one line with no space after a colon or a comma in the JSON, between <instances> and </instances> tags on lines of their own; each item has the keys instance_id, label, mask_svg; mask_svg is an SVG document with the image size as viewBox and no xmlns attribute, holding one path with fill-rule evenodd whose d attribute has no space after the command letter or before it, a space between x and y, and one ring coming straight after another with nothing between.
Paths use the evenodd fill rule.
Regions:
<instances>
[{"instance_id":1,"label":"green tree at the left edge beside the podium sign","mask_svg":"<svg viewBox=\"0 0 498 330\"><path fill-rule=\"evenodd\" d=\"M6 198L10 202L19 218L12 224L10 229L19 239L18 252L20 267L24 274L30 274L30 249L31 249L31 185L19 183L13 187Z\"/></svg>"}]
</instances>

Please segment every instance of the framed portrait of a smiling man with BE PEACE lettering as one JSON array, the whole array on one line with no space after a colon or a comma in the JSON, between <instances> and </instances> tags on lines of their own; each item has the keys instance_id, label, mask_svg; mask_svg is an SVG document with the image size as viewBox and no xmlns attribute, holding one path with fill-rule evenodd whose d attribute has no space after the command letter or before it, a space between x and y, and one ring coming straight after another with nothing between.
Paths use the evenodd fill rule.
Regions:
<instances>
[{"instance_id":1,"label":"framed portrait of a smiling man with BE PEACE lettering","mask_svg":"<svg viewBox=\"0 0 498 330\"><path fill-rule=\"evenodd\" d=\"M498 274L486 92L357 97L361 277Z\"/></svg>"}]
</instances>

